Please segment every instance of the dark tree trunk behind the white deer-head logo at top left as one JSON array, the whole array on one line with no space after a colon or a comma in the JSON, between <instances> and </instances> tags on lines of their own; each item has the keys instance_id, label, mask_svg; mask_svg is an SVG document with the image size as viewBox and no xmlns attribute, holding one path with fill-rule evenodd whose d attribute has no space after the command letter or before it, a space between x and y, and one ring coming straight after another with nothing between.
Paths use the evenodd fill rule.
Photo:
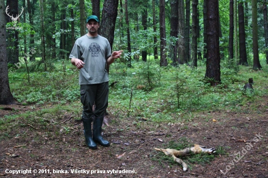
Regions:
<instances>
[{"instance_id":1,"label":"dark tree trunk behind the white deer-head logo at top left","mask_svg":"<svg viewBox=\"0 0 268 178\"><path fill-rule=\"evenodd\" d=\"M6 15L6 22L12 22L13 20L10 16L14 18L18 16L21 11L19 12L19 2L18 0L7 0L6 7L8 6ZM15 27L17 27L18 20L14 21ZM15 29L8 29L7 30L7 54L8 54L8 62L15 64L19 62L19 31Z\"/></svg>"}]
</instances>

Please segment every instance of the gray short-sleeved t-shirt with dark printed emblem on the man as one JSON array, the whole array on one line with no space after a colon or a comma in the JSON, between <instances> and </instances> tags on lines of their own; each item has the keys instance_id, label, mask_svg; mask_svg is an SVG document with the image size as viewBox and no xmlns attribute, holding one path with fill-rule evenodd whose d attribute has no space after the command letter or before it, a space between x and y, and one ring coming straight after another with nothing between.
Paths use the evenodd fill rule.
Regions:
<instances>
[{"instance_id":1,"label":"gray short-sleeved t-shirt with dark printed emblem on the man","mask_svg":"<svg viewBox=\"0 0 268 178\"><path fill-rule=\"evenodd\" d=\"M69 56L70 59L78 58L85 63L80 69L79 85L108 82L106 59L111 55L110 43L105 37L79 37Z\"/></svg>"}]
</instances>

